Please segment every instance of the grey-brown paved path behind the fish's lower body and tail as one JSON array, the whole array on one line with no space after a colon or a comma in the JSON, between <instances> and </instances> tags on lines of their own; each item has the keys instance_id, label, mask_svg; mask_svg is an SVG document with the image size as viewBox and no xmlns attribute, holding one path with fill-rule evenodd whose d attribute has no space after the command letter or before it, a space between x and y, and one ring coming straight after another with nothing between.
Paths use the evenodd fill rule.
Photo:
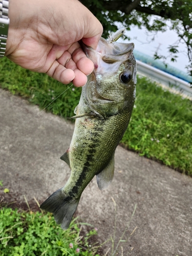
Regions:
<instances>
[{"instance_id":1,"label":"grey-brown paved path behind the fish's lower body and tail","mask_svg":"<svg viewBox=\"0 0 192 256\"><path fill-rule=\"evenodd\" d=\"M41 203L65 184L70 169L59 159L68 149L73 124L41 112L26 100L0 90L0 180L10 198ZM1 190L2 191L2 190ZM0 192L1 192L0 191ZM192 179L118 146L115 177L104 191L94 179L84 190L77 212L98 228L98 240L125 232L123 255L192 255ZM104 246L106 252L111 244ZM111 255L110 252L108 255ZM120 253L119 253L120 255Z\"/></svg>"}]
</instances>

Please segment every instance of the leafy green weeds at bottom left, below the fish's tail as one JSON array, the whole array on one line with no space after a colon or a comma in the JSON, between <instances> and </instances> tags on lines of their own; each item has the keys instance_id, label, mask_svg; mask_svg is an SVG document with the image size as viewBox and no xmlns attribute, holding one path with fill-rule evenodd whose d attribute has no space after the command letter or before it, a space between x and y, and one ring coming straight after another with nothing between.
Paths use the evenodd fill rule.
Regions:
<instances>
[{"instance_id":1,"label":"leafy green weeds at bottom left, below the fish's tail","mask_svg":"<svg viewBox=\"0 0 192 256\"><path fill-rule=\"evenodd\" d=\"M92 228L80 234L81 225L74 219L70 228L62 230L51 214L0 209L1 256L99 256L89 239L96 235Z\"/></svg>"}]
</instances>

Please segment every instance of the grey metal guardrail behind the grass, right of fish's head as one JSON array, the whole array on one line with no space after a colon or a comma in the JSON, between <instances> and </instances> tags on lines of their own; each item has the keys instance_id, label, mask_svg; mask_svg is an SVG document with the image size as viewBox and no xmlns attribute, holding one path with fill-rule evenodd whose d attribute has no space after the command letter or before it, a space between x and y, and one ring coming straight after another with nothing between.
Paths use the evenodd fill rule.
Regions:
<instances>
[{"instance_id":1,"label":"grey metal guardrail behind the grass, right of fish's head","mask_svg":"<svg viewBox=\"0 0 192 256\"><path fill-rule=\"evenodd\" d=\"M137 60L137 73L150 77L167 90L192 100L191 84Z\"/></svg>"}]
</instances>

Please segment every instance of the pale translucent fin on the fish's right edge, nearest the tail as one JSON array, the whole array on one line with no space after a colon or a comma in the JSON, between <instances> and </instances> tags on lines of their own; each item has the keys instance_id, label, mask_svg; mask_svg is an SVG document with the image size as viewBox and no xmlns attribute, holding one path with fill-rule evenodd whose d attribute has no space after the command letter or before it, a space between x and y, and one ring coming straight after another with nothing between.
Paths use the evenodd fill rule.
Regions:
<instances>
[{"instance_id":1,"label":"pale translucent fin on the fish's right edge, nearest the tail","mask_svg":"<svg viewBox=\"0 0 192 256\"><path fill-rule=\"evenodd\" d=\"M97 185L99 189L103 190L108 187L114 176L114 155L109 162L108 166L106 166L99 174L96 175Z\"/></svg>"}]
</instances>

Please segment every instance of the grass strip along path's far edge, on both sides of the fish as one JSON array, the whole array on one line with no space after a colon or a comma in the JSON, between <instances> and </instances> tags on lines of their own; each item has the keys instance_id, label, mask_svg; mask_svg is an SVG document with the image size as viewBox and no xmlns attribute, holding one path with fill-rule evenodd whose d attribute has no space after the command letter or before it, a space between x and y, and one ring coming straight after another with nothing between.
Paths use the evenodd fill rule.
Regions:
<instances>
[{"instance_id":1,"label":"grass strip along path's far edge, on both sides of the fish","mask_svg":"<svg viewBox=\"0 0 192 256\"><path fill-rule=\"evenodd\" d=\"M0 62L0 86L29 98L41 109L70 87L45 74L24 70L7 58ZM80 88L71 87L46 110L71 117L80 93ZM191 101L164 91L147 78L138 77L135 106L121 141L123 145L141 156L158 160L192 176Z\"/></svg>"}]
</instances>

